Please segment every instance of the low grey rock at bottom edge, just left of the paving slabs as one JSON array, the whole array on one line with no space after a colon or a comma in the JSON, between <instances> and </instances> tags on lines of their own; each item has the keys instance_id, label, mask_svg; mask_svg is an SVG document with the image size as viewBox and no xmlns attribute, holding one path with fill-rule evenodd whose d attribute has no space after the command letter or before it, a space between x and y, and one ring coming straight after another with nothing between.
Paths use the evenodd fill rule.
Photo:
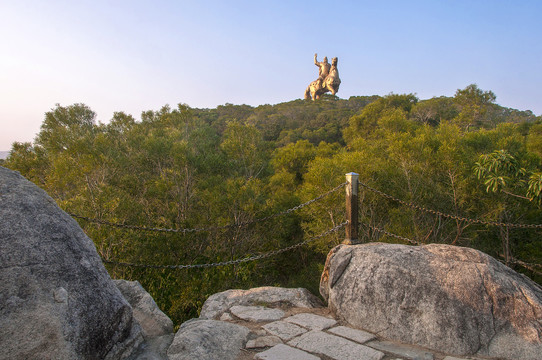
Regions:
<instances>
[{"instance_id":1,"label":"low grey rock at bottom edge, just left of the paving slabs","mask_svg":"<svg viewBox=\"0 0 542 360\"><path fill-rule=\"evenodd\" d=\"M235 360L250 330L216 320L189 320L181 325L167 351L169 360Z\"/></svg>"}]
</instances>

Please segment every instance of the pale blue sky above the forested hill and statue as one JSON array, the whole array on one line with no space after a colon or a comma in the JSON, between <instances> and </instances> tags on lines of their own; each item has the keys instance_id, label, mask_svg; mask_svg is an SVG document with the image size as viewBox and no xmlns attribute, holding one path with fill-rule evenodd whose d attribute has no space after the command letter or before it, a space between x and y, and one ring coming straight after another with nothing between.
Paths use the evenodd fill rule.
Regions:
<instances>
[{"instance_id":1,"label":"pale blue sky above the forested hill and statue","mask_svg":"<svg viewBox=\"0 0 542 360\"><path fill-rule=\"evenodd\" d=\"M540 115L541 14L527 0L0 0L0 150L32 141L57 103L108 122L298 99L315 52L339 58L341 98L476 83Z\"/></svg>"}]
</instances>

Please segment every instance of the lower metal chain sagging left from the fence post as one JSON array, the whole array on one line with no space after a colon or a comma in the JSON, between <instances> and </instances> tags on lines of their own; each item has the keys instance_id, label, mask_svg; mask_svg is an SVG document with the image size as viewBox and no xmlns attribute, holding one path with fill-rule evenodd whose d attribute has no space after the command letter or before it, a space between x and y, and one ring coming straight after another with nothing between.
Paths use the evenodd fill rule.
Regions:
<instances>
[{"instance_id":1,"label":"lower metal chain sagging left from the fence post","mask_svg":"<svg viewBox=\"0 0 542 360\"><path fill-rule=\"evenodd\" d=\"M274 255L281 254L286 251L290 251L293 249L296 249L298 247L301 247L303 245L306 245L314 240L320 239L324 236L327 236L329 234L332 234L334 232L337 232L339 229L344 227L348 221L345 221L327 231L324 231L320 235L313 236L305 241L302 241L300 243L290 245L288 247L278 249L278 250L272 250L263 254L259 255L253 255L241 259L236 260L229 260L229 261L223 261L223 262L216 262L216 263L207 263L207 264L187 264L187 265L152 265L152 264L136 264L136 263L128 263L128 262L120 262L120 261L113 261L109 259L103 259L103 262L107 264L112 265L120 265L120 266L128 266L128 267L138 267L138 268L152 268L152 269L197 269L197 268L210 268L210 267L217 267L217 266L225 266L225 265L235 265L235 264L241 264L249 261L256 261L260 259L265 259Z\"/></svg>"}]
</instances>

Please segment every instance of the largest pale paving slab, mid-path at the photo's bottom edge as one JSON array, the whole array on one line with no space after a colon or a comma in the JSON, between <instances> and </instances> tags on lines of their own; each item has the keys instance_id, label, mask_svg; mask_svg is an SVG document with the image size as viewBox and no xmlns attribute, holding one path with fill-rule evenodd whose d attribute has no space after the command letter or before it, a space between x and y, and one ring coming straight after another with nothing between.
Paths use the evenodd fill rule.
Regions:
<instances>
[{"instance_id":1,"label":"largest pale paving slab, mid-path at the photo's bottom edge","mask_svg":"<svg viewBox=\"0 0 542 360\"><path fill-rule=\"evenodd\" d=\"M288 345L334 360L381 360L385 356L378 350L319 330L296 337Z\"/></svg>"}]
</instances>

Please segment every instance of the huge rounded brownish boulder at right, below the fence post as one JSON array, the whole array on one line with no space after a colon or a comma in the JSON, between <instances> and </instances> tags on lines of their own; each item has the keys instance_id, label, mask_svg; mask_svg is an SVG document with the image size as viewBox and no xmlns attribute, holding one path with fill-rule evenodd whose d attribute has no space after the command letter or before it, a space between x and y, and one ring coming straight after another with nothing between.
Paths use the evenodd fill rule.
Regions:
<instances>
[{"instance_id":1,"label":"huge rounded brownish boulder at right, below the fence post","mask_svg":"<svg viewBox=\"0 0 542 360\"><path fill-rule=\"evenodd\" d=\"M339 245L320 292L347 324L457 355L540 359L542 289L474 249Z\"/></svg>"}]
</instances>

